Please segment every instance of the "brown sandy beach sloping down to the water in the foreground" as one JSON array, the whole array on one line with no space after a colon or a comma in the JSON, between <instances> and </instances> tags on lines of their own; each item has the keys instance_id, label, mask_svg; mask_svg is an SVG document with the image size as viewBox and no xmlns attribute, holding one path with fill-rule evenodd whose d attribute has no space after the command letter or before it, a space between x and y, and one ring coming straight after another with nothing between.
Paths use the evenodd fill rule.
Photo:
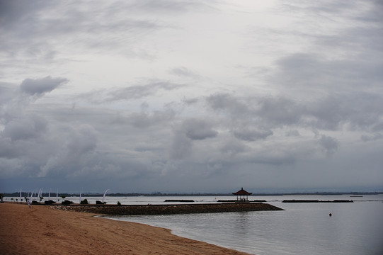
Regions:
<instances>
[{"instance_id":1,"label":"brown sandy beach sloping down to the water in the foreground","mask_svg":"<svg viewBox=\"0 0 383 255\"><path fill-rule=\"evenodd\" d=\"M245 254L171 234L45 205L0 204L0 254Z\"/></svg>"}]
</instances>

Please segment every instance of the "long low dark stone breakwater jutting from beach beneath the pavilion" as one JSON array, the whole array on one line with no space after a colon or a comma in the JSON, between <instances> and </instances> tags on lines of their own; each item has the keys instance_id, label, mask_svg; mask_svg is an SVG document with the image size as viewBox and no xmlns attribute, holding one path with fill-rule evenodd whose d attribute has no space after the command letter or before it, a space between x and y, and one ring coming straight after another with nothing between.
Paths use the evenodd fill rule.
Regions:
<instances>
[{"instance_id":1,"label":"long low dark stone breakwater jutting from beach beneath the pavilion","mask_svg":"<svg viewBox=\"0 0 383 255\"><path fill-rule=\"evenodd\" d=\"M51 205L60 210L91 212L100 215L171 215L207 212L248 212L283 210L268 203L216 203L188 205Z\"/></svg>"}]
</instances>

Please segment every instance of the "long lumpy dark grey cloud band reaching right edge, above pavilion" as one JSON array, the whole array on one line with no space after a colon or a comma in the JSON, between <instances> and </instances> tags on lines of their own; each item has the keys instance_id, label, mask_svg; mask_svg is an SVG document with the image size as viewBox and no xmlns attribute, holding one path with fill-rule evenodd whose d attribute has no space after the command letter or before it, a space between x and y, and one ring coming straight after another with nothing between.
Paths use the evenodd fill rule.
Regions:
<instances>
[{"instance_id":1,"label":"long lumpy dark grey cloud band reaching right edge, above pavilion","mask_svg":"<svg viewBox=\"0 0 383 255\"><path fill-rule=\"evenodd\" d=\"M228 115L235 123L268 130L280 126L342 130L352 128L377 132L381 129L382 96L369 92L341 93L300 100L286 96L241 96L215 94L207 107Z\"/></svg>"}]
</instances>

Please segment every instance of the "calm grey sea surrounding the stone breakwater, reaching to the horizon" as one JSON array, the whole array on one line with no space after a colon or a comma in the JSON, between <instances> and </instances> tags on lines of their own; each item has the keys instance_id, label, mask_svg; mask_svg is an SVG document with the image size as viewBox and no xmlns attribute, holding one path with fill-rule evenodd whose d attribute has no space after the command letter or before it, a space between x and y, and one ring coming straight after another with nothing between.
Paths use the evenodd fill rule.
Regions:
<instances>
[{"instance_id":1,"label":"calm grey sea surrounding the stone breakwater, reaching to the horizon","mask_svg":"<svg viewBox=\"0 0 383 255\"><path fill-rule=\"evenodd\" d=\"M66 199L75 203L79 201L79 197ZM102 200L96 197L87 199L90 203ZM165 200L181 199L194 200L194 203L217 203L217 200L235 198L233 196L106 196L105 202L154 205L166 204ZM266 200L265 203L284 210L109 218L164 227L181 237L249 254L383 255L383 194L248 196L248 200ZM353 203L282 203L283 200L353 200Z\"/></svg>"}]
</instances>

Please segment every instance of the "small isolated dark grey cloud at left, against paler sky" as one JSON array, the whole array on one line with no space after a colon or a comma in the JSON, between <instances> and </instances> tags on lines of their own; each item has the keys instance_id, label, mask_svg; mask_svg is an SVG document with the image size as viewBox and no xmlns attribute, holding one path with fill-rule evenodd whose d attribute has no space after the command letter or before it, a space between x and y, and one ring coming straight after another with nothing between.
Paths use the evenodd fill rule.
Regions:
<instances>
[{"instance_id":1,"label":"small isolated dark grey cloud at left, against paler sky","mask_svg":"<svg viewBox=\"0 0 383 255\"><path fill-rule=\"evenodd\" d=\"M42 95L57 89L68 80L65 78L45 77L41 79L25 79L20 84L21 91L30 95Z\"/></svg>"}]
</instances>

